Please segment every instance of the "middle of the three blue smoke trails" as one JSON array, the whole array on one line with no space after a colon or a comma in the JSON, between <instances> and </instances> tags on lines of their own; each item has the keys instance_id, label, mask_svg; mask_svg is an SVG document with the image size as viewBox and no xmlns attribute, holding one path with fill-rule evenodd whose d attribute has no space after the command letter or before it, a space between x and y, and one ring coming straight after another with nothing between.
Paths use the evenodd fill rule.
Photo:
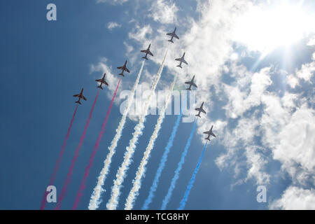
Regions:
<instances>
[{"instance_id":1,"label":"middle of the three blue smoke trails","mask_svg":"<svg viewBox=\"0 0 315 224\"><path fill-rule=\"evenodd\" d=\"M194 123L193 130L191 130L190 137L189 137L189 139L187 141L185 149L184 149L183 153L181 154L181 160L179 161L179 165L177 165L174 177L173 177L172 182L171 182L171 186L169 186L169 190L167 190L167 195L165 196L165 198L164 198L164 200L162 202L161 210L165 210L166 209L167 204L169 203L169 200L172 197L173 190L174 190L174 188L176 186L176 181L179 179L179 173L181 172L181 167L183 167L183 163L185 162L185 157L186 157L188 148L190 146L190 142L193 139L193 135L194 135L194 132L195 132L195 127L196 127L197 121L198 121L198 118L196 119L196 121Z\"/></svg>"}]
</instances>

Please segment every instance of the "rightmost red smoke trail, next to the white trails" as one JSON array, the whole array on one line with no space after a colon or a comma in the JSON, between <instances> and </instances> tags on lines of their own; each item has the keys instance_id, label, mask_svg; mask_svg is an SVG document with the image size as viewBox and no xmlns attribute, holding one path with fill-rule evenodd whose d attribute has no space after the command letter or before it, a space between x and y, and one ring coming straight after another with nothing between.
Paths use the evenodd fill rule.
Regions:
<instances>
[{"instance_id":1,"label":"rightmost red smoke trail, next to the white trails","mask_svg":"<svg viewBox=\"0 0 315 224\"><path fill-rule=\"evenodd\" d=\"M79 204L79 202L80 202L80 199L81 199L81 197L82 197L82 195L83 195L83 190L84 190L84 188L85 188L85 181L86 181L87 177L89 176L90 168L91 168L92 165L93 165L94 155L97 153L97 149L99 148L99 143L100 143L100 141L101 141L101 139L102 139L102 136L103 136L103 134L104 134L104 132L105 132L106 123L107 123L107 120L109 119L109 114L111 113L111 108L112 108L112 106L113 106L113 101L114 101L114 99L115 99L115 97L116 97L116 93L117 93L117 90L118 90L118 87L119 87L119 84L120 84L120 80L121 80L121 78L120 78L119 81L118 81L118 84L117 84L115 93L114 93L114 95L113 95L113 98L111 99L111 104L109 104L109 109L107 110L106 117L105 117L105 120L104 120L103 125L102 125L102 130L101 130L101 132L99 132L99 137L97 138L97 141L96 141L96 143L95 143L95 145L94 145L94 150L93 150L93 152L92 152L92 155L90 156L90 162L89 162L89 164L87 165L87 167L85 167L85 173L84 173L83 179L82 179L82 181L81 181L81 184L80 184L80 188L79 188L79 190L78 190L78 193L77 193L77 195L76 195L76 200L75 200L75 202L74 202L74 204L73 204L73 207L72 207L73 210L78 207L78 204Z\"/></svg>"}]
</instances>

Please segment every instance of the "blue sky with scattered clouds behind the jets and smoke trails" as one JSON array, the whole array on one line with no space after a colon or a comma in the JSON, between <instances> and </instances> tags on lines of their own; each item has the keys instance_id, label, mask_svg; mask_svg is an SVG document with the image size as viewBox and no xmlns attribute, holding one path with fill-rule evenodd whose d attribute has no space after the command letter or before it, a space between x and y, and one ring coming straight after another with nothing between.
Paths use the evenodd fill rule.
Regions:
<instances>
[{"instance_id":1,"label":"blue sky with scattered clouds behind the jets and smoke trails","mask_svg":"<svg viewBox=\"0 0 315 224\"><path fill-rule=\"evenodd\" d=\"M55 3L57 21L46 19ZM157 90L177 89L193 75L196 105L207 116L197 130L167 209L177 209L214 125L186 209L315 209L315 28L314 1L0 1L1 110L0 209L39 209L76 107L73 94L84 87L87 102L76 118L57 173L57 195L97 94L96 78L106 72L62 209L71 209L118 83L117 66L128 59L99 151L78 209L87 209L97 176L121 118L120 99L141 66L140 50L151 43L154 57L144 65L147 90L169 46ZM179 40L167 32L177 26ZM186 51L188 66L175 58ZM139 101L140 99L136 99ZM99 209L106 209L116 171L123 162L138 116L127 119L113 156ZM132 179L158 119L147 116L133 162L123 183L123 209ZM141 209L153 182L176 116L166 116L151 153L134 209ZM181 123L150 209L160 209L193 123ZM258 203L258 186L267 202ZM53 209L54 203L46 209Z\"/></svg>"}]
</instances>

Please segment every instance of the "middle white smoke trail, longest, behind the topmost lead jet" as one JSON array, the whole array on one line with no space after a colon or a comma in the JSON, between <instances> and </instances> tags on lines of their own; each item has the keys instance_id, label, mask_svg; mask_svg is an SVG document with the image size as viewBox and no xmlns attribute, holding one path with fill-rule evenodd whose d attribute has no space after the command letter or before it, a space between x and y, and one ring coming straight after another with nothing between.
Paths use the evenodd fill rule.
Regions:
<instances>
[{"instance_id":1,"label":"middle white smoke trail, longest, behind the topmost lead jet","mask_svg":"<svg viewBox=\"0 0 315 224\"><path fill-rule=\"evenodd\" d=\"M146 115L148 113L148 106L151 102L151 97L154 93L155 87L156 85L158 85L158 81L160 80L163 66L165 63L165 58L167 57L167 51L165 52L165 56L163 58L160 69L158 71L157 77L155 78L153 85L151 87L151 92L148 96L148 99L146 100L144 111L142 111L141 117L139 119L139 123L137 124L136 127L134 127L134 134L132 136L132 139L129 142L129 146L127 146L126 148L123 164L119 167L118 172L116 174L116 180L114 181L113 187L111 189L111 199L106 204L107 209L110 209L110 210L116 209L118 205L120 188L122 187L123 181L125 179L126 171L129 168L129 165L131 163L132 155L134 155L138 138L141 136L142 130L144 129L144 121L146 120Z\"/></svg>"}]
</instances>

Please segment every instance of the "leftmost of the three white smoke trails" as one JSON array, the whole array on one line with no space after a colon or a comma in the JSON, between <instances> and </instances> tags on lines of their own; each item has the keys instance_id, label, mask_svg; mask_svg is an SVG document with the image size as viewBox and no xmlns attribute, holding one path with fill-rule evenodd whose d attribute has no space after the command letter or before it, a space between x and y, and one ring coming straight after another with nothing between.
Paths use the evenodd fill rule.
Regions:
<instances>
[{"instance_id":1,"label":"leftmost of the three white smoke trails","mask_svg":"<svg viewBox=\"0 0 315 224\"><path fill-rule=\"evenodd\" d=\"M132 91L130 93L130 97L128 98L127 104L125 106L125 110L123 113L123 117L120 120L120 123L118 125L118 128L116 129L116 134L113 140L111 141L111 146L109 146L109 154L107 154L106 160L104 160L104 167L102 171L99 174L99 178L97 179L97 186L95 186L93 193L90 198L90 204L88 209L95 210L99 207L99 204L101 204L101 194L102 194L102 187L104 185L104 181L106 179L107 174L109 173L109 167L111 165L111 158L115 154L115 149L117 147L118 141L121 137L121 134L123 133L123 127L125 126L126 118L128 111L130 110L130 106L132 105L132 102L134 101L134 92L136 92L137 85L139 83L139 79L142 73L142 69L144 68L144 61L142 62L141 69L138 73L137 80L134 83L134 87L132 87Z\"/></svg>"}]
</instances>

